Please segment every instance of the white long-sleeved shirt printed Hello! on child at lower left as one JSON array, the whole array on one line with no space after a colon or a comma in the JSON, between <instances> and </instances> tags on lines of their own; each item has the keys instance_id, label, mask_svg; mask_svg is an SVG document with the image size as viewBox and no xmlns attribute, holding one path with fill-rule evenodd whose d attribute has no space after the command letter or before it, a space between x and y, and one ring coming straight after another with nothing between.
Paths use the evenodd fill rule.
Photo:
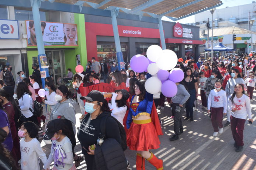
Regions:
<instances>
[{"instance_id":1,"label":"white long-sleeved shirt printed Hello! on child at lower left","mask_svg":"<svg viewBox=\"0 0 256 170\"><path fill-rule=\"evenodd\" d=\"M39 141L33 138L29 142L25 142L25 138L19 141L21 146L21 169L22 170L40 170L40 160L43 164L46 163L47 158L43 152Z\"/></svg>"}]
</instances>

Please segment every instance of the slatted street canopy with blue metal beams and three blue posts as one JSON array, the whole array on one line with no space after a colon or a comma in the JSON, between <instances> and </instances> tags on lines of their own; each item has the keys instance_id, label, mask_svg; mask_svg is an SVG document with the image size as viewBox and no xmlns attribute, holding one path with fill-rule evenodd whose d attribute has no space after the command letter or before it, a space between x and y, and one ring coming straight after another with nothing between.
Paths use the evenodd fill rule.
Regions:
<instances>
[{"instance_id":1,"label":"slatted street canopy with blue metal beams and three blue posts","mask_svg":"<svg viewBox=\"0 0 256 170\"><path fill-rule=\"evenodd\" d=\"M32 7L36 37L38 40L41 40L37 41L38 58L45 56L39 8L41 10L111 17L119 69L124 68L124 62L121 52L117 18L157 23L159 26L162 49L166 49L161 20L163 16L177 21L216 8L222 4L220 0L0 0L0 5L23 8ZM49 76L47 70L46 75Z\"/></svg>"}]
</instances>

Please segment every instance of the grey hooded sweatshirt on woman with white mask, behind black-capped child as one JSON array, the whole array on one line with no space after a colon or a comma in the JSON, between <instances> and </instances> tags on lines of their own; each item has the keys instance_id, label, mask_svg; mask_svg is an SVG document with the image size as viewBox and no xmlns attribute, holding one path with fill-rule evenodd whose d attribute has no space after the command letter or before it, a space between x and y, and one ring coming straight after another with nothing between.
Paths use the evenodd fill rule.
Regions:
<instances>
[{"instance_id":1,"label":"grey hooded sweatshirt on woman with white mask, behind black-capped child","mask_svg":"<svg viewBox=\"0 0 256 170\"><path fill-rule=\"evenodd\" d=\"M58 102L53 111L51 112L50 120L54 119L67 119L71 121L73 126L73 131L76 133L75 128L75 107L74 107L75 101L73 99L67 99L63 102Z\"/></svg>"}]
</instances>

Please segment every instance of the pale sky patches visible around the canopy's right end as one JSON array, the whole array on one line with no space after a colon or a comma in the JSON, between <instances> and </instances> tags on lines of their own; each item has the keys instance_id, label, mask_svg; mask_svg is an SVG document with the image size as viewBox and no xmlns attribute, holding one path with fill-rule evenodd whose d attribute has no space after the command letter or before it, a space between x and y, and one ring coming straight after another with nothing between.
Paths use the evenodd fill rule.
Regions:
<instances>
[{"instance_id":1,"label":"pale sky patches visible around the canopy's right end","mask_svg":"<svg viewBox=\"0 0 256 170\"><path fill-rule=\"evenodd\" d=\"M221 9L221 8L225 8L225 7L234 7L234 6L238 6L238 5L244 5L244 4L250 4L250 3L252 3L252 1L253 0L222 0L223 5L221 5L220 7L217 7L216 9ZM169 19L165 16L162 19L165 20L165 21L172 21L171 19ZM187 18L175 21L175 22L193 23L193 22L195 22L195 16L192 15L192 16L189 16Z\"/></svg>"}]
</instances>

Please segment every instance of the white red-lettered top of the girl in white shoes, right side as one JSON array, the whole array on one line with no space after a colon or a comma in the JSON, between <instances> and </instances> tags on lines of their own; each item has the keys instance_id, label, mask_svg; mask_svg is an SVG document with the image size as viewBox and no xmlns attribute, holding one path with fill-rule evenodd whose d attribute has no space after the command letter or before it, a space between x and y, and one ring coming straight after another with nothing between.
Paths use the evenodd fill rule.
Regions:
<instances>
[{"instance_id":1,"label":"white red-lettered top of the girl in white shoes, right side","mask_svg":"<svg viewBox=\"0 0 256 170\"><path fill-rule=\"evenodd\" d=\"M223 107L223 112L227 113L227 95L224 90L220 90L217 92L216 89L210 91L208 96L208 110L211 107L218 108Z\"/></svg>"}]
</instances>

